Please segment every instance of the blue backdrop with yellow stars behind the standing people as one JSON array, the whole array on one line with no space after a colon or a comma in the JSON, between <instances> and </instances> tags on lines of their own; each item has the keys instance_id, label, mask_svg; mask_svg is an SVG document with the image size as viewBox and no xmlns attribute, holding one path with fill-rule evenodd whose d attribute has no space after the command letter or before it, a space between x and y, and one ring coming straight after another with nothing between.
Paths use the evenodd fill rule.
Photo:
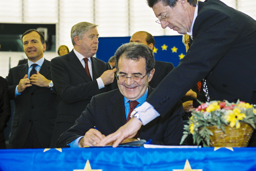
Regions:
<instances>
[{"instance_id":1,"label":"blue backdrop with yellow stars behind the standing people","mask_svg":"<svg viewBox=\"0 0 256 171\"><path fill-rule=\"evenodd\" d=\"M96 57L108 62L114 55L116 49L123 43L130 41L131 37L99 37L99 46ZM155 38L155 59L165 62L172 62L176 67L180 59L186 54L186 49L182 43L182 36L154 36Z\"/></svg>"}]
</instances>

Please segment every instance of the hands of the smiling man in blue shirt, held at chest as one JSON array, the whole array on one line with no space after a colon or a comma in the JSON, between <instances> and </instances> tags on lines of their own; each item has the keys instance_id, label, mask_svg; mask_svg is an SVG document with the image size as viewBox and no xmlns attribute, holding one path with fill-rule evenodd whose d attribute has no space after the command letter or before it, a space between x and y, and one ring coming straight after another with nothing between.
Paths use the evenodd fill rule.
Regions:
<instances>
[{"instance_id":1,"label":"hands of the smiling man in blue shirt, held at chest","mask_svg":"<svg viewBox=\"0 0 256 171\"><path fill-rule=\"evenodd\" d=\"M27 87L31 87L32 85L37 85L39 87L48 87L49 82L51 82L51 80L47 79L44 75L36 71L36 74L31 75L29 78L27 77L27 74L25 74L25 76L20 79L17 90L18 93L21 93Z\"/></svg>"}]
</instances>

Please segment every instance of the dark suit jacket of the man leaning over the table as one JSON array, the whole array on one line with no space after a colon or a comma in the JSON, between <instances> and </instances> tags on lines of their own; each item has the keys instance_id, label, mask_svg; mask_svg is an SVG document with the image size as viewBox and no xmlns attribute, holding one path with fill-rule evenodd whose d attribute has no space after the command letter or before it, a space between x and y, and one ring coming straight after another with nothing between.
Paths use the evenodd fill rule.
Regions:
<instances>
[{"instance_id":1,"label":"dark suit jacket of the man leaning over the table","mask_svg":"<svg viewBox=\"0 0 256 171\"><path fill-rule=\"evenodd\" d=\"M212 100L255 104L255 40L254 19L219 0L199 2L186 56L147 101L164 116L198 80L206 78Z\"/></svg>"}]
</instances>

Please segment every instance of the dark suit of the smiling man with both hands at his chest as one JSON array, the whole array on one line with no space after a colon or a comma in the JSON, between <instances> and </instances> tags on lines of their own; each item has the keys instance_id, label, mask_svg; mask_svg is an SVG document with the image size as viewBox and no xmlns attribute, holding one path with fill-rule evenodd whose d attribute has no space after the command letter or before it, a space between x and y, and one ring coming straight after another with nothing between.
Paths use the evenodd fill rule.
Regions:
<instances>
[{"instance_id":1,"label":"dark suit of the smiling man with both hands at his chest","mask_svg":"<svg viewBox=\"0 0 256 171\"><path fill-rule=\"evenodd\" d=\"M47 87L33 85L15 97L16 85L27 71L28 64L18 65L11 68L6 77L10 99L14 100L15 105L9 137L10 147L23 148L33 124L41 146L49 148L57 114L56 95ZM50 61L45 59L39 72L51 80Z\"/></svg>"}]
</instances>

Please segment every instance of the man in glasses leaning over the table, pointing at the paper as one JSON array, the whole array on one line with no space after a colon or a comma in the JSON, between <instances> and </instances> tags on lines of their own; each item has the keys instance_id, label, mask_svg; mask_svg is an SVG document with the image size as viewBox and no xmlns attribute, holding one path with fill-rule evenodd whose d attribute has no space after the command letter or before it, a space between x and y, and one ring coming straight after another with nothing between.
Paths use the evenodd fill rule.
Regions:
<instances>
[{"instance_id":1,"label":"man in glasses leaning over the table, pointing at the paper","mask_svg":"<svg viewBox=\"0 0 256 171\"><path fill-rule=\"evenodd\" d=\"M135 134L141 125L160 115L163 117L203 78L212 100L236 102L240 99L256 104L254 19L220 0L148 0L148 5L163 28L187 33L193 42L179 65L158 85L147 102L134 111L142 122L136 118L130 120L99 145L117 140L115 147ZM251 145L256 145L255 140L252 137Z\"/></svg>"}]
</instances>

